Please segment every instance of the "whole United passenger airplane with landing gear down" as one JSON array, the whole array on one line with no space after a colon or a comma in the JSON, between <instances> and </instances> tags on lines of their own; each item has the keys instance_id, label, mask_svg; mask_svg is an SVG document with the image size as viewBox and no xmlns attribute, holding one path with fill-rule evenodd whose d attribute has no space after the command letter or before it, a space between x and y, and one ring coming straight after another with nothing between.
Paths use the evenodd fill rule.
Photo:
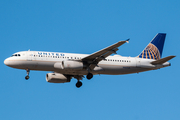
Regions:
<instances>
[{"instance_id":1,"label":"whole United passenger airplane with landing gear down","mask_svg":"<svg viewBox=\"0 0 180 120\"><path fill-rule=\"evenodd\" d=\"M175 56L161 58L166 33L158 33L146 48L136 57L123 57L116 54L118 47L128 40L119 41L109 47L92 54L72 54L62 52L21 51L4 60L4 64L17 69L26 70L25 79L29 79L30 70L52 71L46 74L50 83L66 83L77 79L76 87L82 86L86 75L88 80L93 75L122 75L139 73L168 67L167 61Z\"/></svg>"}]
</instances>

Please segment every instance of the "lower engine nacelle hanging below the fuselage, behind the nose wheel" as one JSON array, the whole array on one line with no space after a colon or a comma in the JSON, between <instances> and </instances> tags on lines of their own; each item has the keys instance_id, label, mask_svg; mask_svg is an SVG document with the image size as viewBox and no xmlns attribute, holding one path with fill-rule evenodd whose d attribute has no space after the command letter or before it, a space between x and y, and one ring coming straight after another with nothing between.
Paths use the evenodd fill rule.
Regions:
<instances>
[{"instance_id":1,"label":"lower engine nacelle hanging below the fuselage, behind the nose wheel","mask_svg":"<svg viewBox=\"0 0 180 120\"><path fill-rule=\"evenodd\" d=\"M65 83L70 82L71 77L60 73L48 73L46 74L46 81L50 83Z\"/></svg>"}]
</instances>

